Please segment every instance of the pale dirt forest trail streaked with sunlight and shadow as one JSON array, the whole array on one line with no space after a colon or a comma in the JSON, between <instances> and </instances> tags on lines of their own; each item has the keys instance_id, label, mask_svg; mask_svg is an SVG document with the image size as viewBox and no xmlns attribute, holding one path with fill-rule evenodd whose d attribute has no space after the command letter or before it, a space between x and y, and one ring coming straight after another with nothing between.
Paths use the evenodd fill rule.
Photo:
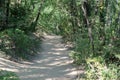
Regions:
<instances>
[{"instance_id":1,"label":"pale dirt forest trail streaked with sunlight and shadow","mask_svg":"<svg viewBox=\"0 0 120 80\"><path fill-rule=\"evenodd\" d=\"M60 36L45 36L42 52L32 62L15 63L0 58L0 69L14 71L21 80L74 80L78 73L72 65L68 53L70 50L61 43Z\"/></svg>"}]
</instances>

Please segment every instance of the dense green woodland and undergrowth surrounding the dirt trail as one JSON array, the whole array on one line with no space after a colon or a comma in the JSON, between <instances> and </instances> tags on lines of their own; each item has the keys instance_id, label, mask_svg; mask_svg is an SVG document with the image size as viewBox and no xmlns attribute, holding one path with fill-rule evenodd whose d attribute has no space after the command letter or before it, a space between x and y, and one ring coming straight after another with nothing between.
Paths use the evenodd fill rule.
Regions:
<instances>
[{"instance_id":1,"label":"dense green woodland and undergrowth surrounding the dirt trail","mask_svg":"<svg viewBox=\"0 0 120 80\"><path fill-rule=\"evenodd\" d=\"M0 0L1 54L29 59L43 32L72 44L85 80L120 80L120 0Z\"/></svg>"}]
</instances>

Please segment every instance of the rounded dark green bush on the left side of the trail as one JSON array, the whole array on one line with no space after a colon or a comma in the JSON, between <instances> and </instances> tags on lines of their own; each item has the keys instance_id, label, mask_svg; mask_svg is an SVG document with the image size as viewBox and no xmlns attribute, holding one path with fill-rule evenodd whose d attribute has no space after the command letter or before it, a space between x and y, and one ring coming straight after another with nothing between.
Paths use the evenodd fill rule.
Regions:
<instances>
[{"instance_id":1,"label":"rounded dark green bush on the left side of the trail","mask_svg":"<svg viewBox=\"0 0 120 80\"><path fill-rule=\"evenodd\" d=\"M19 57L21 59L29 59L30 55L34 55L39 46L39 39L32 38L20 29L10 29L3 32L1 36L1 50L6 54Z\"/></svg>"}]
</instances>

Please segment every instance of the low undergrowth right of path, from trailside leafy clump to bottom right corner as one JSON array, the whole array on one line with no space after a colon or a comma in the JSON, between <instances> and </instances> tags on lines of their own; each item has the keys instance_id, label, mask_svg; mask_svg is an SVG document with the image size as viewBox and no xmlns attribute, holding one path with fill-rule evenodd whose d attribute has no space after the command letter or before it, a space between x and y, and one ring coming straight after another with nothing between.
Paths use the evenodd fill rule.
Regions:
<instances>
[{"instance_id":1,"label":"low undergrowth right of path, from trailside leafy clump to bottom right corner","mask_svg":"<svg viewBox=\"0 0 120 80\"><path fill-rule=\"evenodd\" d=\"M69 56L77 65L85 65L85 77L80 77L79 80L120 80L120 65L119 62L106 62L105 57L84 57L87 55L72 51ZM81 76L81 75L80 75Z\"/></svg>"}]
</instances>

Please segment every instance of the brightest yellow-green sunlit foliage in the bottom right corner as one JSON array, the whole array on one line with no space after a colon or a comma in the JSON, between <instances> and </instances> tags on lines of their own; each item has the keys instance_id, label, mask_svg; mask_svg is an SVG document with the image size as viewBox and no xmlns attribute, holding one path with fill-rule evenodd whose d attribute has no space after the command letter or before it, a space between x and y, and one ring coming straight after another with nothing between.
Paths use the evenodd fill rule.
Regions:
<instances>
[{"instance_id":1,"label":"brightest yellow-green sunlit foliage in the bottom right corner","mask_svg":"<svg viewBox=\"0 0 120 80\"><path fill-rule=\"evenodd\" d=\"M120 68L116 65L106 66L102 57L87 59L86 80L119 80Z\"/></svg>"}]
</instances>

